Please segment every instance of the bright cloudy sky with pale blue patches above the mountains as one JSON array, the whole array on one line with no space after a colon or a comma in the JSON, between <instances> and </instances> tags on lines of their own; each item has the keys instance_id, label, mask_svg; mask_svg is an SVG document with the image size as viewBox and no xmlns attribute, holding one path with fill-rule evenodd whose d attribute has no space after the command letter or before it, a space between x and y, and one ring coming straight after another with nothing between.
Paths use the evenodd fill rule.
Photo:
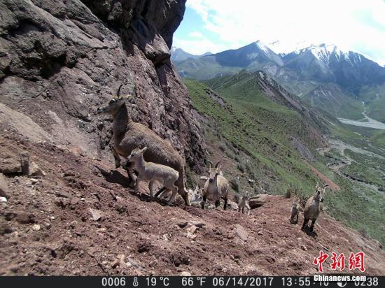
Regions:
<instances>
[{"instance_id":1,"label":"bright cloudy sky with pale blue patches above the mountains","mask_svg":"<svg viewBox=\"0 0 385 288\"><path fill-rule=\"evenodd\" d=\"M253 41L274 52L335 44L385 65L385 0L187 0L173 45L194 55Z\"/></svg>"}]
</instances>

